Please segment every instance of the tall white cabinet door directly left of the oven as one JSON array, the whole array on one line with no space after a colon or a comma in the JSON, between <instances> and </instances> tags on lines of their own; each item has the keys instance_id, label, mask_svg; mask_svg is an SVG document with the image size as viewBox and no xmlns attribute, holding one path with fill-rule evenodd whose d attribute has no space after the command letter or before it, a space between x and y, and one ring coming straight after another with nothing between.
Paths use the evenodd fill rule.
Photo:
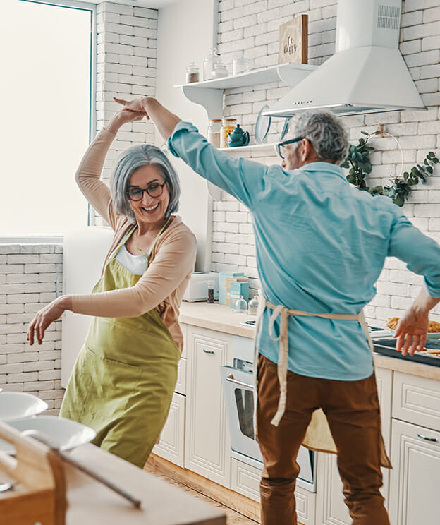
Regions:
<instances>
[{"instance_id":1,"label":"tall white cabinet door directly left of the oven","mask_svg":"<svg viewBox=\"0 0 440 525\"><path fill-rule=\"evenodd\" d=\"M230 364L232 336L188 325L185 467L231 487L231 440L220 367Z\"/></svg>"}]
</instances>

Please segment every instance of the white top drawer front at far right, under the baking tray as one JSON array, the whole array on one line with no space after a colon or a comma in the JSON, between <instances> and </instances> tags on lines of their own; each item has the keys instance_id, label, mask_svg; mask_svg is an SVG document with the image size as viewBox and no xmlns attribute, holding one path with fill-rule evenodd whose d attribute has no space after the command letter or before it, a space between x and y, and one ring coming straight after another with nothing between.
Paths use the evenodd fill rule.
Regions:
<instances>
[{"instance_id":1,"label":"white top drawer front at far right, under the baking tray","mask_svg":"<svg viewBox=\"0 0 440 525\"><path fill-rule=\"evenodd\" d=\"M440 431L440 382L394 372L393 418Z\"/></svg>"}]
</instances>

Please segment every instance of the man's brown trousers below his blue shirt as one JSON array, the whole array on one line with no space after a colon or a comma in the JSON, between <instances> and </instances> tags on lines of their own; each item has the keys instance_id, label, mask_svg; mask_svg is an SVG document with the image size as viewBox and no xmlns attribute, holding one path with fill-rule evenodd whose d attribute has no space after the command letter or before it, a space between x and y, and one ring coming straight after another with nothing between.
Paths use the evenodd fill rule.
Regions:
<instances>
[{"instance_id":1,"label":"man's brown trousers below his blue shirt","mask_svg":"<svg viewBox=\"0 0 440 525\"><path fill-rule=\"evenodd\" d=\"M343 495L353 525L389 525L380 493L380 412L374 375L360 381L307 378L288 372L286 412L271 425L279 401L276 363L258 357L257 425L264 459L262 525L296 525L298 449L312 412L321 407L338 449Z\"/></svg>"}]
</instances>

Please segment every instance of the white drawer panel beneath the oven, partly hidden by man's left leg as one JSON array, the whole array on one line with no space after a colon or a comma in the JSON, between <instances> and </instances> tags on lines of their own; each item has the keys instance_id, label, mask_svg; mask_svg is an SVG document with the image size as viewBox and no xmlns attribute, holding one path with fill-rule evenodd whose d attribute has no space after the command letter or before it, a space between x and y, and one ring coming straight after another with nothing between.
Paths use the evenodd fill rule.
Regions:
<instances>
[{"instance_id":1,"label":"white drawer panel beneath the oven, partly hidden by man's left leg","mask_svg":"<svg viewBox=\"0 0 440 525\"><path fill-rule=\"evenodd\" d=\"M231 459L231 489L249 497L251 500L259 502L259 481L261 479L261 469L255 468ZM296 513L298 521L302 525L315 525L315 506L316 495L301 487L295 490Z\"/></svg>"}]
</instances>

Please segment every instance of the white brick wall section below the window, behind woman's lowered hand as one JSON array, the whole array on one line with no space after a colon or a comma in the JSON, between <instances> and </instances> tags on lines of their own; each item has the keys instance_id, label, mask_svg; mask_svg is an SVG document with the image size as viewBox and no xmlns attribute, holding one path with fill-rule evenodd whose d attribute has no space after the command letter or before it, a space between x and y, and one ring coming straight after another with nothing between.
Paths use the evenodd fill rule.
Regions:
<instances>
[{"instance_id":1,"label":"white brick wall section below the window, behind woman's lowered hand","mask_svg":"<svg viewBox=\"0 0 440 525\"><path fill-rule=\"evenodd\" d=\"M48 414L58 414L61 389L61 320L49 327L44 342L26 341L35 312L62 289L61 244L0 245L0 387L44 399Z\"/></svg>"}]
</instances>

